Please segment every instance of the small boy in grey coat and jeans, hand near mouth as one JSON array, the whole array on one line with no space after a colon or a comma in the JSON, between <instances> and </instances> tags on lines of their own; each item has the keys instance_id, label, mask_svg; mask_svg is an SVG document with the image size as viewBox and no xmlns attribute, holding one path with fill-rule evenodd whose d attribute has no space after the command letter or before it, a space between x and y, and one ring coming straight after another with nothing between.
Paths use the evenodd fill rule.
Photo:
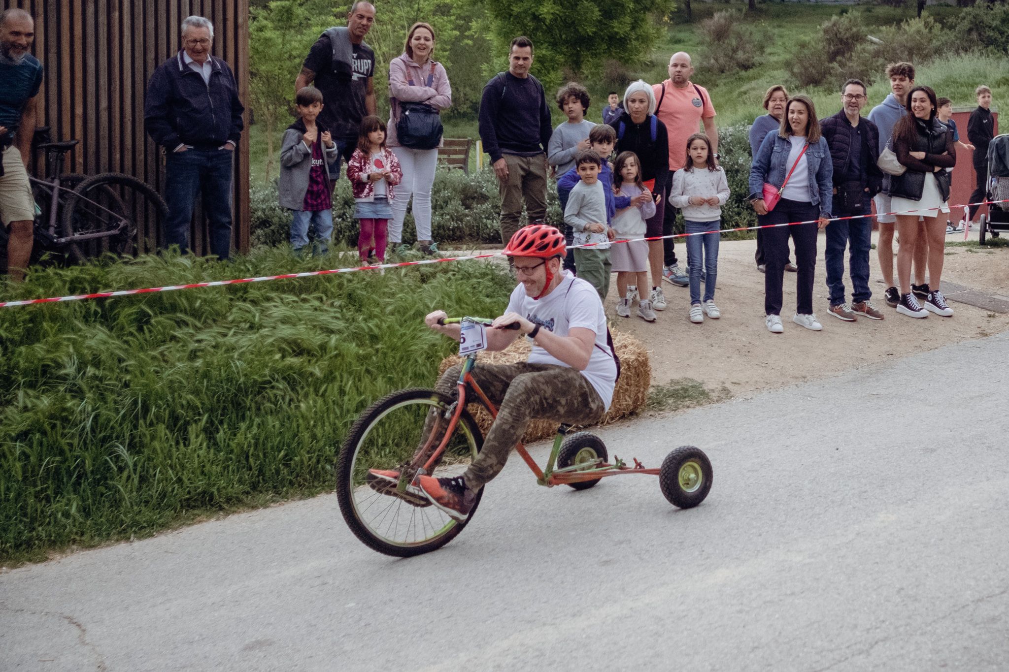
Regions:
<instances>
[{"instance_id":1,"label":"small boy in grey coat and jeans, hand near mouth","mask_svg":"<svg viewBox=\"0 0 1009 672\"><path fill-rule=\"evenodd\" d=\"M317 254L329 251L333 237L333 192L328 166L338 149L328 130L317 119L322 112L322 92L303 87L295 99L299 119L284 132L281 142L281 207L292 213L291 247L299 256L309 244Z\"/></svg>"}]
</instances>

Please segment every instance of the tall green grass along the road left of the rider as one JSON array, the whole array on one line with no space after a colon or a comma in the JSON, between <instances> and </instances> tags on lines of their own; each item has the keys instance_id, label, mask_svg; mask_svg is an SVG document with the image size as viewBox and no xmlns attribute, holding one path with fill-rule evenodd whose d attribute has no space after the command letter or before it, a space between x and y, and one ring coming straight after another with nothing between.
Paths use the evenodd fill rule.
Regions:
<instances>
[{"instance_id":1,"label":"tall green grass along the road left of the rider","mask_svg":"<svg viewBox=\"0 0 1009 672\"><path fill-rule=\"evenodd\" d=\"M283 249L36 271L8 297L327 268ZM0 560L150 534L332 487L355 416L433 384L435 308L498 314L511 283L459 262L0 309Z\"/></svg>"}]
</instances>

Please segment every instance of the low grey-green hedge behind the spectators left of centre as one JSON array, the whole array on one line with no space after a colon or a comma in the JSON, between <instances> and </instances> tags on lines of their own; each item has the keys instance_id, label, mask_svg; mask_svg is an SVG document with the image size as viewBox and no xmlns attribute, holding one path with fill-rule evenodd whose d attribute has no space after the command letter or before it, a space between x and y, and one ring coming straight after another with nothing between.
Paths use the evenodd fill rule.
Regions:
<instances>
[{"instance_id":1,"label":"low grey-green hedge behind the spectators left of centre","mask_svg":"<svg viewBox=\"0 0 1009 672\"><path fill-rule=\"evenodd\" d=\"M254 184L250 198L250 229L253 246L276 246L287 243L291 213L277 204L276 182ZM434 240L443 243L500 243L500 195L497 178L492 170L476 170L465 174L461 170L439 168L431 190ZM557 200L557 186L550 180L547 192L547 222L555 226L564 216ZM340 179L333 195L333 241L349 247L357 245L357 220L354 219L354 198L350 183ZM403 225L403 240L417 241L414 216L408 211Z\"/></svg>"}]
</instances>

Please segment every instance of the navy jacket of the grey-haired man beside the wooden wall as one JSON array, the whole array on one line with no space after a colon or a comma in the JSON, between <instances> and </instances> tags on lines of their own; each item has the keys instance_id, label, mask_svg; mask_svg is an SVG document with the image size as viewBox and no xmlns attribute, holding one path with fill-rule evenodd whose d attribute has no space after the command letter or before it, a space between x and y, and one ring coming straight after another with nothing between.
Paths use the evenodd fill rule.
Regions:
<instances>
[{"instance_id":1,"label":"navy jacket of the grey-haired man beside the wooden wall","mask_svg":"<svg viewBox=\"0 0 1009 672\"><path fill-rule=\"evenodd\" d=\"M161 63L147 83L143 120L147 134L167 151L179 145L217 149L242 135L238 85L228 64L210 56L210 85L187 65L180 51Z\"/></svg>"}]
</instances>

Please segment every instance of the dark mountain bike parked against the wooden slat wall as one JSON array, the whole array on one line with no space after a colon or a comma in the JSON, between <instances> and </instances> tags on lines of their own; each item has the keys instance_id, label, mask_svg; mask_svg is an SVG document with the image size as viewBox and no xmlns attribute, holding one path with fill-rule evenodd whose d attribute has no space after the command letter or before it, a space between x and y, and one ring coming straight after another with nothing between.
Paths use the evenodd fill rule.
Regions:
<instances>
[{"instance_id":1,"label":"dark mountain bike parked against the wooden slat wall","mask_svg":"<svg viewBox=\"0 0 1009 672\"><path fill-rule=\"evenodd\" d=\"M44 253L81 262L104 252L133 251L137 223L148 228L167 217L169 207L156 191L131 175L63 173L64 157L79 140L52 142L49 128L35 130L32 146L45 152L45 176L29 176L35 199L32 261ZM0 244L7 235L0 227Z\"/></svg>"}]
</instances>

